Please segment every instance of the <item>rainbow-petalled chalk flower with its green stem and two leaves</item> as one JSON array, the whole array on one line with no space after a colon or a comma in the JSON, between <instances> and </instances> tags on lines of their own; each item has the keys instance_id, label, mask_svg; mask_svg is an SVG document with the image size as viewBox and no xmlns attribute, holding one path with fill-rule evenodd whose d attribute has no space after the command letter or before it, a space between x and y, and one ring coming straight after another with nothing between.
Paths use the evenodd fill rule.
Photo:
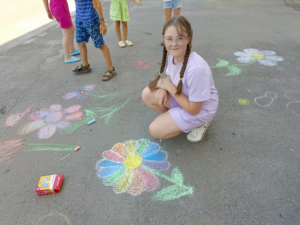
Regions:
<instances>
[{"instance_id":1,"label":"rainbow-petalled chalk flower with its green stem and two leaves","mask_svg":"<svg viewBox=\"0 0 300 225\"><path fill-rule=\"evenodd\" d=\"M167 153L157 143L148 139L128 140L117 143L103 152L103 159L96 163L97 176L103 184L113 186L116 193L137 196L158 187L158 177L173 183L157 192L152 199L168 201L193 194L193 187L184 185L182 173L176 167L171 177L160 171L168 170Z\"/></svg>"}]
</instances>

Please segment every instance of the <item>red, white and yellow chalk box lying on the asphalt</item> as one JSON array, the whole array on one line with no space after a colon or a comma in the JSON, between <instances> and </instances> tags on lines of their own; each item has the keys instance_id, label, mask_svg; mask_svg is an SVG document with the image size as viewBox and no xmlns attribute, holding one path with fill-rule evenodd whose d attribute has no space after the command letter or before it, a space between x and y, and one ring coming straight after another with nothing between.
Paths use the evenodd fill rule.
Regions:
<instances>
[{"instance_id":1,"label":"red, white and yellow chalk box lying on the asphalt","mask_svg":"<svg viewBox=\"0 0 300 225\"><path fill-rule=\"evenodd\" d=\"M61 174L41 176L36 192L38 195L58 193L63 177L64 175Z\"/></svg>"}]
</instances>

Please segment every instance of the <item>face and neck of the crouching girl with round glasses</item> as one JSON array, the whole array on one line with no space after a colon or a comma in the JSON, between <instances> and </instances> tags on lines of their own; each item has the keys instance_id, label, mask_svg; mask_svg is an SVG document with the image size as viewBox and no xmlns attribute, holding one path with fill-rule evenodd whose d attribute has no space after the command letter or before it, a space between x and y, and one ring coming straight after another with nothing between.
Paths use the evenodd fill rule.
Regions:
<instances>
[{"instance_id":1,"label":"face and neck of the crouching girl with round glasses","mask_svg":"<svg viewBox=\"0 0 300 225\"><path fill-rule=\"evenodd\" d=\"M173 43L171 45L168 45L167 40L170 41L171 39L173 39ZM179 42L179 44L181 44L180 41L182 41L183 39L185 40L183 40L184 43L182 45L179 45L176 43L176 39L178 40L177 42ZM175 26L170 26L165 31L164 40L167 51L174 57L174 63L180 63L184 59L189 39L186 37L186 35L184 35L184 37L179 35Z\"/></svg>"}]
</instances>

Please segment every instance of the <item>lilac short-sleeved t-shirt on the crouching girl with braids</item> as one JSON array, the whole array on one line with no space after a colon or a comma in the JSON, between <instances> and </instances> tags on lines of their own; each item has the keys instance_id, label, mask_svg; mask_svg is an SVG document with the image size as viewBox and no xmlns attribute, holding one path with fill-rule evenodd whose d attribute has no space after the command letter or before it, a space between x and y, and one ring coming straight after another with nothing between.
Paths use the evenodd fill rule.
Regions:
<instances>
[{"instance_id":1,"label":"lilac short-sleeved t-shirt on the crouching girl with braids","mask_svg":"<svg viewBox=\"0 0 300 225\"><path fill-rule=\"evenodd\" d=\"M174 64L173 56L169 54L166 74L170 76L173 85L177 87L182 63ZM219 95L214 87L211 70L207 62L196 52L190 53L182 78L182 94L190 101L202 102L197 115L203 122L210 121L217 111Z\"/></svg>"}]
</instances>

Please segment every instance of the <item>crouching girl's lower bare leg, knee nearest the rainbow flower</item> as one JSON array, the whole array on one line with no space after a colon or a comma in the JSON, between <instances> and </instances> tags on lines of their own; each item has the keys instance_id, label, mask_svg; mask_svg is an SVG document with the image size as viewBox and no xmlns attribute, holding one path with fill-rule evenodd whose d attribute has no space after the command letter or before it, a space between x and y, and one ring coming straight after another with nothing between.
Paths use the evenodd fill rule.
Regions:
<instances>
[{"instance_id":1,"label":"crouching girl's lower bare leg, knee nearest the rainbow flower","mask_svg":"<svg viewBox=\"0 0 300 225\"><path fill-rule=\"evenodd\" d=\"M168 139L183 133L169 112L165 112L156 117L149 125L149 132L153 137L159 139Z\"/></svg>"}]
</instances>

